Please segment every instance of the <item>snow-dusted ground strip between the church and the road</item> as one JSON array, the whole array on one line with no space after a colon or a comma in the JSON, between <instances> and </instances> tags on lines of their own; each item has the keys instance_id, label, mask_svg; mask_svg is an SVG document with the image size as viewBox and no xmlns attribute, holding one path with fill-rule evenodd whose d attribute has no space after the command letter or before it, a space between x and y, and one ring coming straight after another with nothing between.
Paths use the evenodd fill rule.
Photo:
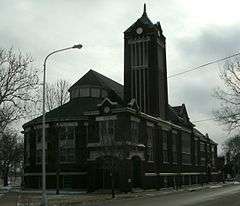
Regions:
<instances>
[{"instance_id":1,"label":"snow-dusted ground strip between the church and the road","mask_svg":"<svg viewBox=\"0 0 240 206\"><path fill-rule=\"evenodd\" d=\"M48 205L49 206L63 206L72 204L91 204L96 202L104 201L115 201L127 198L147 198L147 197L157 197L161 195L167 195L179 192L194 192L204 189L215 189L227 185L232 185L233 182L228 183L211 183L203 186L192 185L185 186L179 190L174 190L173 188L163 188L160 190L133 190L131 193L116 193L116 198L112 199L110 192L107 194L105 191L98 191L96 193L86 193L86 192L72 192L72 191L62 191L60 195L55 195L55 191L48 191ZM41 202L41 191L20 191L18 193L18 206L38 206Z\"/></svg>"}]
</instances>

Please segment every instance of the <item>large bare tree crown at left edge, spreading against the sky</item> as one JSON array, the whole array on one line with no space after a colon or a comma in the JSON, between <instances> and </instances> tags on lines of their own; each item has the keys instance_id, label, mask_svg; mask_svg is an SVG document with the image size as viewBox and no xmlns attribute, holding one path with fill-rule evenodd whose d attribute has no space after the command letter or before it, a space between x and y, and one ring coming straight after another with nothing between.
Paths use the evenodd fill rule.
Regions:
<instances>
[{"instance_id":1,"label":"large bare tree crown at left edge, spreading against the sky","mask_svg":"<svg viewBox=\"0 0 240 206\"><path fill-rule=\"evenodd\" d=\"M27 103L33 101L32 92L38 86L38 71L32 66L32 58L20 51L0 48L0 126L20 119Z\"/></svg>"}]
</instances>

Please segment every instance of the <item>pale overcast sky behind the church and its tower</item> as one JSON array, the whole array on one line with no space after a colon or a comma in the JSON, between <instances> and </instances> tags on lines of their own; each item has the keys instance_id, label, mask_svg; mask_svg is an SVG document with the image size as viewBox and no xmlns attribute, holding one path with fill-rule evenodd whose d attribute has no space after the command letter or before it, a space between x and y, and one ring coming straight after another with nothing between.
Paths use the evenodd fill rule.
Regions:
<instances>
[{"instance_id":1,"label":"pale overcast sky behind the church and its tower","mask_svg":"<svg viewBox=\"0 0 240 206\"><path fill-rule=\"evenodd\" d=\"M0 46L30 53L42 68L54 49L81 43L81 50L52 56L47 79L77 81L94 69L123 83L123 32L147 4L147 14L160 21L167 44L168 75L222 58L240 48L240 3L234 0L0 0ZM211 118L222 86L221 64L171 78L169 101L185 103L192 121ZM227 136L214 121L196 123L221 144Z\"/></svg>"}]
</instances>

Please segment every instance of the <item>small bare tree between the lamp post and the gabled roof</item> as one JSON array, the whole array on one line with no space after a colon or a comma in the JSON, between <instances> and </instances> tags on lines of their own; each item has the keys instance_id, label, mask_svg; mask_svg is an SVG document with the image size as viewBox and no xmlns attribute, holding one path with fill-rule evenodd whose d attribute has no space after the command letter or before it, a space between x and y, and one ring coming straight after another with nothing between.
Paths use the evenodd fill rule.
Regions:
<instances>
[{"instance_id":1,"label":"small bare tree between the lamp post and the gabled roof","mask_svg":"<svg viewBox=\"0 0 240 206\"><path fill-rule=\"evenodd\" d=\"M46 85L46 106L48 111L62 106L69 101L69 87L69 82L63 79L58 80L56 83L48 83Z\"/></svg>"}]
</instances>

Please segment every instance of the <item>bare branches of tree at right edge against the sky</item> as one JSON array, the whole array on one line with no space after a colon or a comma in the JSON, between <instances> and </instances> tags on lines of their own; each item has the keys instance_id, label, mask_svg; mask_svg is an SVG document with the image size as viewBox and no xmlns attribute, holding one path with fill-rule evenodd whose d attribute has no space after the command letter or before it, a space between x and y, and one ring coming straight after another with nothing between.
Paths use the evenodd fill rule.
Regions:
<instances>
[{"instance_id":1,"label":"bare branches of tree at right edge against the sky","mask_svg":"<svg viewBox=\"0 0 240 206\"><path fill-rule=\"evenodd\" d=\"M220 70L225 88L217 88L214 96L220 101L220 108L214 116L225 124L229 131L240 127L240 59L226 61Z\"/></svg>"}]
</instances>

